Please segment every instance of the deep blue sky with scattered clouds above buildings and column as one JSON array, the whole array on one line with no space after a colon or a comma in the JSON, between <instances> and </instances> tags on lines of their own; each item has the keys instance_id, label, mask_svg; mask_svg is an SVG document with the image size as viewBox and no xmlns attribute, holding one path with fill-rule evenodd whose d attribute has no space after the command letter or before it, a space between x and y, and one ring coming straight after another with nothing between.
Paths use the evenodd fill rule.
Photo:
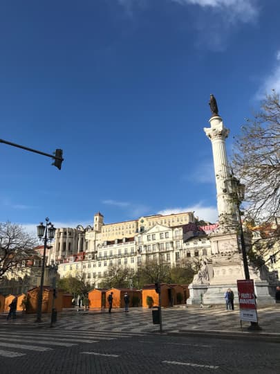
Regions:
<instances>
[{"instance_id":1,"label":"deep blue sky with scattered clouds above buildings and column","mask_svg":"<svg viewBox=\"0 0 280 374\"><path fill-rule=\"evenodd\" d=\"M280 90L277 0L0 4L0 222L32 229L195 211L216 221L209 94L227 150Z\"/></svg>"}]
</instances>

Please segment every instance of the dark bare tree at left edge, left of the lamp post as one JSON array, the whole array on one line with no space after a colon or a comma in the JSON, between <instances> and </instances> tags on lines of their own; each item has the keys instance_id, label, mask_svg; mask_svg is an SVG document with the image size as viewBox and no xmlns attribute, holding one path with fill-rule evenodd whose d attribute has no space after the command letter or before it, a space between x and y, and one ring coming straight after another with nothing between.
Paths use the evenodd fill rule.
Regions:
<instances>
[{"instance_id":1,"label":"dark bare tree at left edge, left of the lamp post","mask_svg":"<svg viewBox=\"0 0 280 374\"><path fill-rule=\"evenodd\" d=\"M22 226L0 222L0 279L7 271L17 271L26 261L37 255L37 240L24 231Z\"/></svg>"}]
</instances>

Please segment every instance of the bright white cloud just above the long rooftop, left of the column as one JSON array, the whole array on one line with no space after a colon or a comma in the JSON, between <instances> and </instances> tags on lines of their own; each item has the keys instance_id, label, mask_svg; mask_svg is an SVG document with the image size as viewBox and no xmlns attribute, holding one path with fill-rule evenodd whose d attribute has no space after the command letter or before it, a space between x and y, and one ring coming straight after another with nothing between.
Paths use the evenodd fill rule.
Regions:
<instances>
[{"instance_id":1,"label":"bright white cloud just above the long rooftop, left of the column","mask_svg":"<svg viewBox=\"0 0 280 374\"><path fill-rule=\"evenodd\" d=\"M216 206L203 206L202 203L193 206L186 206L185 208L167 208L159 211L158 214L169 215L172 213L194 212L194 216L199 220L205 220L216 223L218 220L218 211Z\"/></svg>"}]
</instances>

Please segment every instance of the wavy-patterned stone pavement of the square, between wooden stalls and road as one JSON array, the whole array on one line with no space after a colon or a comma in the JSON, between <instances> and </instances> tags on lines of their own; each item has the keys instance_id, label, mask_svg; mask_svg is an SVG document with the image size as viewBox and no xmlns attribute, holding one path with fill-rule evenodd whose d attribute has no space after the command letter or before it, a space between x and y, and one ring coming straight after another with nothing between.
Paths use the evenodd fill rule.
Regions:
<instances>
[{"instance_id":1,"label":"wavy-patterned stone pavement of the square, between wooden stalls and road","mask_svg":"<svg viewBox=\"0 0 280 374\"><path fill-rule=\"evenodd\" d=\"M259 308L259 326L261 335L271 335L280 338L280 305ZM43 323L34 323L35 315L19 315L15 321L6 321L5 314L0 316L0 328L5 326L29 326L48 328L50 316L43 314ZM241 323L239 310L225 310L225 308L199 308L185 306L180 308L162 308L162 326L165 332L241 332L251 334L247 328L250 323ZM82 311L64 310L57 316L56 329L64 330L110 330L113 332L158 332L158 325L153 325L151 310L147 308L131 308L129 313L123 309L115 309L111 314L106 310Z\"/></svg>"}]
</instances>

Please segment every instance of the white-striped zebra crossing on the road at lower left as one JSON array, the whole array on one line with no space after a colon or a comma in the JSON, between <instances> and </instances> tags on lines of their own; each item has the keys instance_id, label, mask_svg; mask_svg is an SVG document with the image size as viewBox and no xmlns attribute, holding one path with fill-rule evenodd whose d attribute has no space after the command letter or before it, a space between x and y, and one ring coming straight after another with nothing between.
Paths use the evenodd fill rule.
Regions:
<instances>
[{"instance_id":1,"label":"white-striped zebra crossing on the road at lower left","mask_svg":"<svg viewBox=\"0 0 280 374\"><path fill-rule=\"evenodd\" d=\"M99 341L111 341L131 338L143 334L117 333L111 331L64 331L64 330L0 330L0 357L21 357L28 352L44 353L56 348L69 348L80 344L97 344Z\"/></svg>"}]
</instances>

